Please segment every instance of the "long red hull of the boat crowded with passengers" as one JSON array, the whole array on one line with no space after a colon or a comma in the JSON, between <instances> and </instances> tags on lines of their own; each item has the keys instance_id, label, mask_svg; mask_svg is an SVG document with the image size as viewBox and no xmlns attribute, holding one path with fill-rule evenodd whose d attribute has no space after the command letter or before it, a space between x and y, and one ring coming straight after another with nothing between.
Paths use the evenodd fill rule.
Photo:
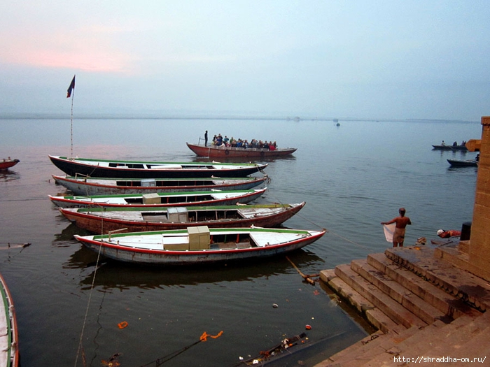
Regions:
<instances>
[{"instance_id":1,"label":"long red hull of the boat crowded with passengers","mask_svg":"<svg viewBox=\"0 0 490 367\"><path fill-rule=\"evenodd\" d=\"M262 148L244 148L244 147L216 147L214 145L190 144L186 143L190 150L195 152L198 157L211 158L270 158L270 157L285 157L293 154L297 148L287 147L276 150L268 150Z\"/></svg>"}]
</instances>

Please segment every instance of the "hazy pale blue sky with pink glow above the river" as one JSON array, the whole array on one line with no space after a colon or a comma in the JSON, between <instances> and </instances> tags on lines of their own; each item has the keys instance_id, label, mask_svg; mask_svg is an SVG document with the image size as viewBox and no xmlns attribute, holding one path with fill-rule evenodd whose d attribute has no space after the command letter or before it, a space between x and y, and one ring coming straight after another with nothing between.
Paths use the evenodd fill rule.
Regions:
<instances>
[{"instance_id":1,"label":"hazy pale blue sky with pink glow above the river","mask_svg":"<svg viewBox=\"0 0 490 367\"><path fill-rule=\"evenodd\" d=\"M488 0L0 3L0 115L490 115Z\"/></svg>"}]
</instances>

